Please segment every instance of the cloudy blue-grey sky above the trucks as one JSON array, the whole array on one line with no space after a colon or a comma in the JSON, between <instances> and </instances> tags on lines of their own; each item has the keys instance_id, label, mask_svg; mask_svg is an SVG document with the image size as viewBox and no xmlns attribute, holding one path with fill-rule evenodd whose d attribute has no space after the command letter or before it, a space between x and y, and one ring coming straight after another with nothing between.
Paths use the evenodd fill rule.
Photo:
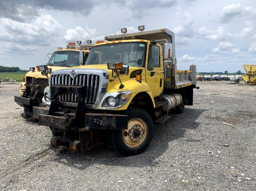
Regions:
<instances>
[{"instance_id":1,"label":"cloudy blue-grey sky above the trucks","mask_svg":"<svg viewBox=\"0 0 256 191\"><path fill-rule=\"evenodd\" d=\"M175 33L178 70L245 73L256 62L255 0L0 0L0 65L29 70L57 46L139 25Z\"/></svg>"}]
</instances>

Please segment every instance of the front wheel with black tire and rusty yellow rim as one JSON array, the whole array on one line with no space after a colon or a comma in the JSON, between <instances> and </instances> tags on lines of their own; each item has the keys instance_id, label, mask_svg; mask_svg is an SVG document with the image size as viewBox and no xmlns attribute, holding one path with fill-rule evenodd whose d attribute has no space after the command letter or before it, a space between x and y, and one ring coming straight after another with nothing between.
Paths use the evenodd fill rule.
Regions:
<instances>
[{"instance_id":1,"label":"front wheel with black tire and rusty yellow rim","mask_svg":"<svg viewBox=\"0 0 256 191\"><path fill-rule=\"evenodd\" d=\"M140 108L130 108L128 129L114 130L113 146L122 154L130 156L146 150L153 138L153 121L150 115Z\"/></svg>"}]
</instances>

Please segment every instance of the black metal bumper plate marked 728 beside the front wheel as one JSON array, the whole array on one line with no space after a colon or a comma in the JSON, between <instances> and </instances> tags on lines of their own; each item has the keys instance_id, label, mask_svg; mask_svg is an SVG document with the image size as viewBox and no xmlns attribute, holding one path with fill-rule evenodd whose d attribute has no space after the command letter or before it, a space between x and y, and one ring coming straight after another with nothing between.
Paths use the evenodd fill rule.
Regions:
<instances>
[{"instance_id":1,"label":"black metal bumper plate marked 728 beside the front wheel","mask_svg":"<svg viewBox=\"0 0 256 191\"><path fill-rule=\"evenodd\" d=\"M94 129L128 129L128 115L86 114L85 127Z\"/></svg>"}]
</instances>

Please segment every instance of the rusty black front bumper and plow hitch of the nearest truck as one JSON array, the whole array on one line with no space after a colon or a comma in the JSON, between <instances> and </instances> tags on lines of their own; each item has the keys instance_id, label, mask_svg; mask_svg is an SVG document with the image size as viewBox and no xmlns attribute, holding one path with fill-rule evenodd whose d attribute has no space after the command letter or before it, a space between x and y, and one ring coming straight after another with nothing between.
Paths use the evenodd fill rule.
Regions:
<instances>
[{"instance_id":1,"label":"rusty black front bumper and plow hitch of the nearest truck","mask_svg":"<svg viewBox=\"0 0 256 191\"><path fill-rule=\"evenodd\" d=\"M51 127L52 146L70 151L85 151L99 146L100 129L128 129L128 115L88 113L85 114L84 121L75 117L39 115L39 124ZM68 134L76 134L77 138L74 139Z\"/></svg>"}]
</instances>

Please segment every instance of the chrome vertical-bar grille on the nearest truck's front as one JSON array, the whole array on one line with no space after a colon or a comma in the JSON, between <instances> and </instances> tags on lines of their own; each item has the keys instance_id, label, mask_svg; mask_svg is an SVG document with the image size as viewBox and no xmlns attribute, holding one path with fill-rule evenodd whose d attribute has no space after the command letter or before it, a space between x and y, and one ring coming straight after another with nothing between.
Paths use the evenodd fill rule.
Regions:
<instances>
[{"instance_id":1,"label":"chrome vertical-bar grille on the nearest truck's front","mask_svg":"<svg viewBox=\"0 0 256 191\"><path fill-rule=\"evenodd\" d=\"M74 79L68 74L51 76L51 85L82 85L86 87L85 103L94 104L99 92L100 76L94 74L80 74ZM64 93L59 96L60 102L78 102L74 93Z\"/></svg>"}]
</instances>

